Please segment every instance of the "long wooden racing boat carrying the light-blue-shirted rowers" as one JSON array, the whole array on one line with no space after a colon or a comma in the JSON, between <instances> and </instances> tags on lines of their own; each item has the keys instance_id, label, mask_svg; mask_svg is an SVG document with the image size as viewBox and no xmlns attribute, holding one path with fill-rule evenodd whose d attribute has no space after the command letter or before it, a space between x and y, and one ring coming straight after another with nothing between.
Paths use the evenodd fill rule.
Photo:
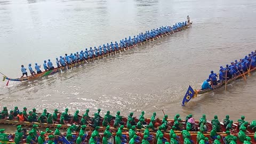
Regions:
<instances>
[{"instance_id":1,"label":"long wooden racing boat carrying the light-blue-shirted rowers","mask_svg":"<svg viewBox=\"0 0 256 144\"><path fill-rule=\"evenodd\" d=\"M192 25L192 22L191 22L191 23L188 23L188 25L186 25L186 26L184 26L184 27L182 27L182 28L179 28L179 29L177 29L177 30L172 31L171 33L174 34L174 33L177 33L178 31L185 30L185 29L189 28L191 25ZM161 37L161 36L162 36L162 38L163 38L163 37L166 37L166 36L171 35L171 33L170 33L169 31L167 31L167 32L164 33L164 34L158 35L158 37ZM7 77L6 75L4 75L4 74L2 74L2 73L1 73L1 74L2 74L3 77L4 77L3 81L4 81L5 79L7 79L7 80L9 80L9 81L30 81L30 80L33 80L33 79L36 79L36 78L40 78L40 77L44 77L44 76L53 75L53 74L55 74L55 73L59 73L60 71L69 70L69 69L72 69L72 68L74 68L74 67L83 65L83 64L85 64L85 63L90 63L90 62L92 62L92 61L94 61L94 60L99 60L99 59L102 59L102 58L105 58L105 57L110 57L109 55L112 55L112 54L114 55L114 53L115 53L115 54L116 54L116 53L121 53L121 52L123 52L123 51L130 50L130 49L132 49L133 47L140 46L140 45L143 45L143 44L145 44L145 43L149 43L149 42L151 42L151 41L155 41L155 39L159 39L158 37L156 36L156 37L154 37L154 38L147 39L146 41L143 41L143 42L141 42L141 43L138 43L137 45L132 45L132 46L126 47L126 48L124 48L124 49L121 49L121 48L119 47L119 50L120 50L120 51L115 51L115 52L111 52L111 53L107 53L107 54L103 54L103 53L102 53L103 55L101 55L101 56L99 56L99 57L94 57L94 58L92 58L92 59L83 60L83 61L77 61L77 62L74 62L73 64L71 64L71 65L69 65L69 66L67 66L67 67L54 68L53 70L44 71L44 72L41 73L41 74L31 75L31 76L22 77L22 78L9 78L9 77ZM126 50L125 50L125 49L126 49ZM6 85L7 85L7 84L6 84Z\"/></svg>"}]
</instances>

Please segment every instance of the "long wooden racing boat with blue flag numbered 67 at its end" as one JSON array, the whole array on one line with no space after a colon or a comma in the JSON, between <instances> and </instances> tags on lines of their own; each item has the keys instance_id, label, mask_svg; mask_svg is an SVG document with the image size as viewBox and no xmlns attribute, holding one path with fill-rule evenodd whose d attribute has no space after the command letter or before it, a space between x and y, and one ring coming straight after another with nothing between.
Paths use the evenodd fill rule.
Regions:
<instances>
[{"instance_id":1,"label":"long wooden racing boat with blue flag numbered 67 at its end","mask_svg":"<svg viewBox=\"0 0 256 144\"><path fill-rule=\"evenodd\" d=\"M256 67L253 68L253 69L250 69L250 73L252 71L255 71L255 70L256 70ZM238 78L246 76L248 73L249 73L249 71L246 71L243 74L239 74L236 77L233 77L233 78L229 79L227 81L227 84L236 81L236 79L238 79ZM202 89L194 90L191 86L189 86L188 90L187 90L187 93L185 94L185 96L184 96L184 98L182 100L182 106L185 106L192 98L193 99L196 98L198 94L214 92L214 91L217 91L219 89L222 89L222 87L225 86L225 85L226 85L226 83L225 83L225 81L223 81L222 83L218 83L218 85L213 86L213 89L205 89L205 90L202 90Z\"/></svg>"}]
</instances>

